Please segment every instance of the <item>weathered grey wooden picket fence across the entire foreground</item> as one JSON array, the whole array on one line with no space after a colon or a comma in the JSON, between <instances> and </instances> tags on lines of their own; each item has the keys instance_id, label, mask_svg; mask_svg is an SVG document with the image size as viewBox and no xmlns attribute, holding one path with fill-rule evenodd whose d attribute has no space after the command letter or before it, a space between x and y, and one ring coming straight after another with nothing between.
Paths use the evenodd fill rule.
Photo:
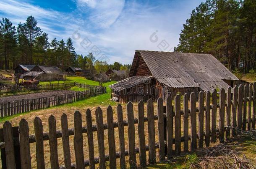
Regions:
<instances>
[{"instance_id":1,"label":"weathered grey wooden picket fence across the entire foreground","mask_svg":"<svg viewBox=\"0 0 256 169\"><path fill-rule=\"evenodd\" d=\"M0 149L5 149L2 154L3 169L18 168L31 169L30 144L36 144L37 168L44 169L44 141L49 140L50 146L50 165L52 169L84 169L85 166L95 168L99 164L100 169L109 167L117 168L117 159L120 159L120 168L124 169L125 156L129 156L130 168L154 164L157 161L165 161L179 156L183 152L194 151L198 148L209 146L211 142L220 142L236 136L240 133L239 129L255 129L256 116L256 83L249 86L235 86L233 93L231 88L227 88L227 93L222 88L219 97L215 90L212 94L200 92L198 100L196 94L191 93L183 96L183 109L181 109L181 97L175 96L174 106L172 106L171 96L167 96L165 104L162 98L157 100L157 111L154 112L152 99L146 102L146 114L144 117L144 103L138 103L138 117L134 118L133 103L129 102L126 108L127 119L123 119L122 106L117 106L117 121L114 122L113 110L111 106L107 108L107 124L103 124L103 113L101 108L95 111L96 125L92 124L92 114L89 109L86 111L86 126L82 126L82 115L79 111L74 113L74 128L68 129L67 115L61 116L61 131L56 130L56 120L54 116L48 119L49 132L43 133L41 119L34 119L34 134L29 135L29 125L25 119L19 124L18 136L13 136L12 124L6 121L3 125L3 142ZM196 106L198 101L198 107ZM217 112L219 112L217 116ZM217 127L217 117L219 125ZM183 119L183 120L182 120ZM198 127L197 127L197 119ZM155 121L157 121L157 132L155 132ZM147 123L145 123L147 122ZM135 124L138 124L138 134L135 134ZM190 124L190 129L189 129ZM210 126L211 124L211 126ZM147 129L145 129L147 125ZM183 125L183 126L182 126ZM128 137L125 137L124 127L128 126ZM115 132L118 128L118 133ZM183 136L182 134L183 128ZM230 129L232 128L232 129ZM104 145L104 130L107 130L108 145ZM190 132L189 132L190 130ZM94 156L93 132L97 132L97 142L99 157ZM145 141L145 132L148 132L148 145ZM86 134L86 138L83 137ZM119 144L115 143L115 134L119 136ZM73 135L73 145L75 151L75 164L71 163L69 136ZM0 135L1 136L1 135ZM173 137L175 136L175 137ZM157 141L156 141L157 137ZM62 138L64 165L60 166L58 156L57 138ZM128 138L128 149L125 150L125 138ZM136 138L138 145L136 145ZM83 142L88 144L89 159L84 159ZM183 142L183 151L181 143ZM174 149L173 149L174 144ZM20 149L20 162L17 163L15 146ZM105 154L105 147L108 146L108 153ZM116 152L116 146L119 151ZM190 147L190 148L189 148ZM60 148L60 147L59 147ZM156 149L159 153L156 154ZM148 151L148 155L146 155ZM139 159L136 159L139 154ZM4 158L3 158L4 156ZM3 161L5 163L3 163ZM33 160L34 161L34 160ZM109 166L106 166L109 161ZM17 165L18 164L18 165ZM118 166L119 167L119 166Z\"/></svg>"}]
</instances>

